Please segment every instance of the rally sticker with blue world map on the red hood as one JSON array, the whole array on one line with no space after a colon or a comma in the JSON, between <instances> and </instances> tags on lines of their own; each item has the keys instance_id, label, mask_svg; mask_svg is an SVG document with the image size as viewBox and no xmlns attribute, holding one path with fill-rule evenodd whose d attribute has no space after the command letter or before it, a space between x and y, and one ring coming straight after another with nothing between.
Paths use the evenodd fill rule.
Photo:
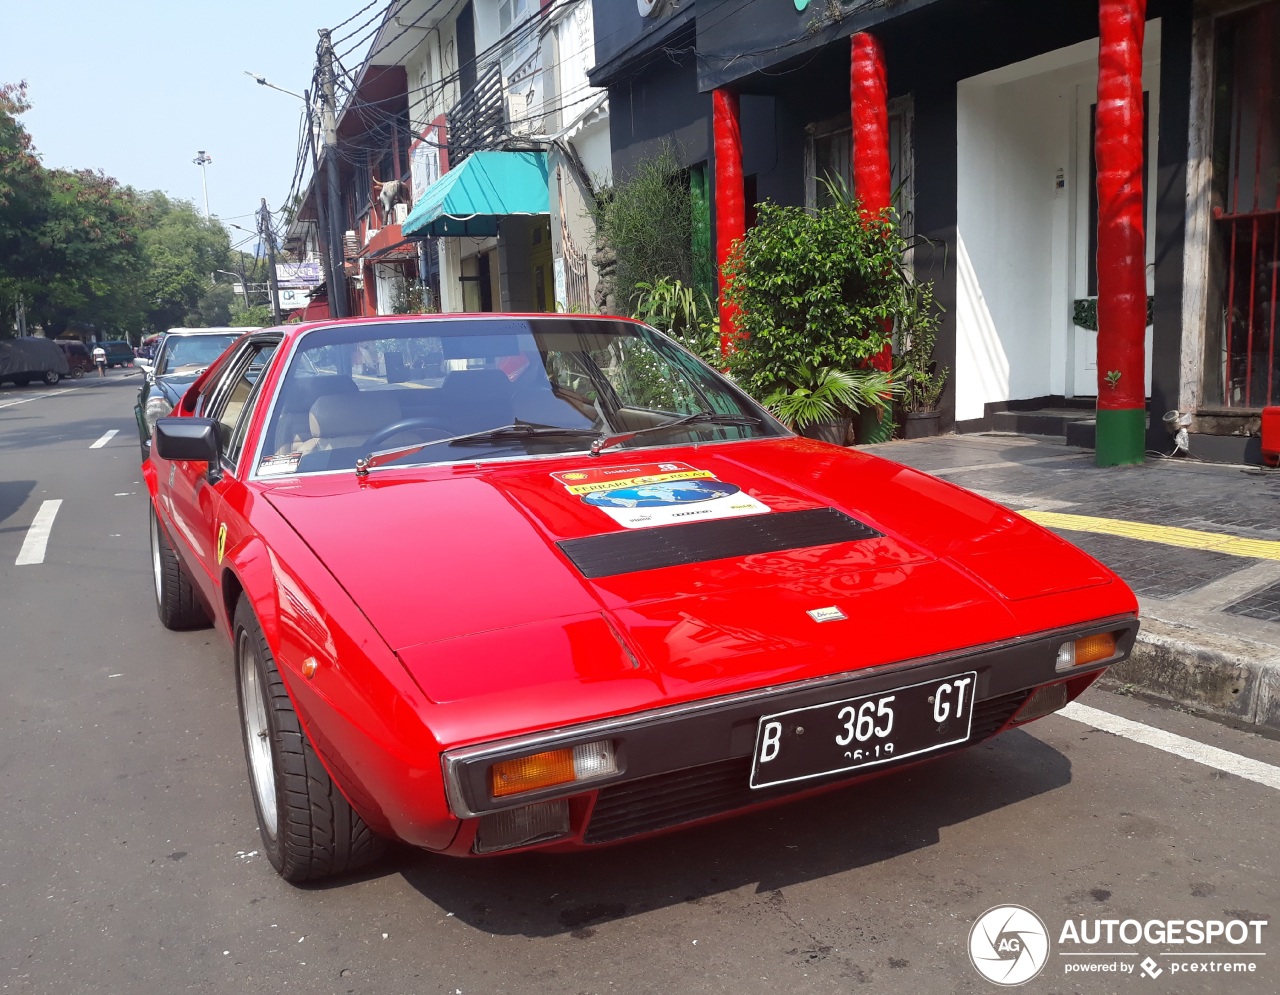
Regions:
<instances>
[{"instance_id":1,"label":"rally sticker with blue world map on the red hood","mask_svg":"<svg viewBox=\"0 0 1280 995\"><path fill-rule=\"evenodd\" d=\"M689 464L593 466L552 476L582 503L599 508L626 529L772 511L736 484L717 480L709 470Z\"/></svg>"}]
</instances>

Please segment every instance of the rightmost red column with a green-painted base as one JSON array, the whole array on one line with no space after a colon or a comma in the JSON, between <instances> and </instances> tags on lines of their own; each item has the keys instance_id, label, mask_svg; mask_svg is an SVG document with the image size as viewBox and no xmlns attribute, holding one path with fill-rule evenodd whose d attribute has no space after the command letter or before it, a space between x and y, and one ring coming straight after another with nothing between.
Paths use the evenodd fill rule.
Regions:
<instances>
[{"instance_id":1,"label":"rightmost red column with a green-painted base","mask_svg":"<svg viewBox=\"0 0 1280 995\"><path fill-rule=\"evenodd\" d=\"M1142 218L1146 0L1100 0L1098 466L1146 452L1147 237Z\"/></svg>"}]
</instances>

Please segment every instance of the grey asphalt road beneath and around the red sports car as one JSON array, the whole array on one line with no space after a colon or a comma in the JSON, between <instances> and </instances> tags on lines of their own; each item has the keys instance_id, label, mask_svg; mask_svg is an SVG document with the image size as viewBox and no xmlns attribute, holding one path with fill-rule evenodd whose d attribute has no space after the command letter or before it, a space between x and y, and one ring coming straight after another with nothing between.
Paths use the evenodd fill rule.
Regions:
<instances>
[{"instance_id":1,"label":"grey asphalt road beneath and around the red sports car","mask_svg":"<svg viewBox=\"0 0 1280 995\"><path fill-rule=\"evenodd\" d=\"M1280 990L1275 925L1216 940L1221 957L1061 941L1069 921L1280 912L1280 743L1102 692L1087 703L1261 763L1224 771L1051 716L645 843L397 850L356 880L283 884L259 853L229 648L156 620L137 384L0 388L0 990L993 992L969 934L1005 904L1050 934L1028 991ZM44 558L19 566L50 501ZM1240 962L1253 972L1220 969ZM1082 964L1116 972L1068 973Z\"/></svg>"}]
</instances>

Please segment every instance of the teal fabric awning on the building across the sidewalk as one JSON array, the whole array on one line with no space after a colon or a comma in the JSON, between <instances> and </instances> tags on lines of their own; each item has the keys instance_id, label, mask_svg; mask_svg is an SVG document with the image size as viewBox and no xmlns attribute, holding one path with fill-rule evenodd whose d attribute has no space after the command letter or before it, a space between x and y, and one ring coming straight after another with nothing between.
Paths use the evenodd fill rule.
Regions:
<instances>
[{"instance_id":1,"label":"teal fabric awning on the building across the sidewalk","mask_svg":"<svg viewBox=\"0 0 1280 995\"><path fill-rule=\"evenodd\" d=\"M547 152L472 152L422 191L401 225L407 236L483 238L512 214L549 214Z\"/></svg>"}]
</instances>

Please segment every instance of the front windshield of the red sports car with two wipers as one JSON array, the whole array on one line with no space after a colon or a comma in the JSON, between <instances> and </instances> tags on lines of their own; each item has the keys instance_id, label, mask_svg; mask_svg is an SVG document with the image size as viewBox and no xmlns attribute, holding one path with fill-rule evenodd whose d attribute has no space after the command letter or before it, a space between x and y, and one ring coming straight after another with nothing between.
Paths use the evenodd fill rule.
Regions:
<instances>
[{"instance_id":1,"label":"front windshield of the red sports car with two wipers","mask_svg":"<svg viewBox=\"0 0 1280 995\"><path fill-rule=\"evenodd\" d=\"M611 446L634 449L782 433L722 376L631 321L360 324L300 341L257 473L355 470L399 448L378 465L589 452L614 435Z\"/></svg>"}]
</instances>

